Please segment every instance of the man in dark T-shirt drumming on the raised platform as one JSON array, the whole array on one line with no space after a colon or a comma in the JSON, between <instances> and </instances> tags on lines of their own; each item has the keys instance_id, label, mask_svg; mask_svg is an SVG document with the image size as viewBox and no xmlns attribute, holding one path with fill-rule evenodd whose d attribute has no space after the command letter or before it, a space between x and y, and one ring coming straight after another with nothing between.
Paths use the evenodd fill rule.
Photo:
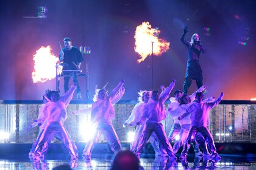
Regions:
<instances>
[{"instance_id":1,"label":"man in dark T-shirt drumming on the raised platform","mask_svg":"<svg viewBox=\"0 0 256 170\"><path fill-rule=\"evenodd\" d=\"M60 55L59 55L60 62L67 64L67 66L63 66L63 70L79 70L81 63L84 61L82 57L82 53L79 51L77 47L72 46L72 42L70 38L66 37L63 39L63 41L64 41L65 48L60 50ZM68 84L69 84L70 77L65 76L65 72L63 73L63 75L64 75L64 90L65 92L67 92L69 89ZM80 99L82 98L82 95L81 95L80 86L77 80L76 72L71 73L71 77L73 77L74 83L77 84L76 93L77 93L77 98Z\"/></svg>"}]
</instances>

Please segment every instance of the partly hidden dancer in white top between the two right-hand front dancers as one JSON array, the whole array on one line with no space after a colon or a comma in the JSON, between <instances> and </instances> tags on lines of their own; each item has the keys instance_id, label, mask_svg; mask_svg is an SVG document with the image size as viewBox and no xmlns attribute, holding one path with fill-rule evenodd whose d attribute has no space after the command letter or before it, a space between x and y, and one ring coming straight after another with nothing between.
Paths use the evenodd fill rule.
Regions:
<instances>
[{"instance_id":1,"label":"partly hidden dancer in white top between the two right-hand front dancers","mask_svg":"<svg viewBox=\"0 0 256 170\"><path fill-rule=\"evenodd\" d=\"M171 112L171 110L174 110L177 108L177 106L179 106L179 98L182 97L182 90L176 90L174 92L174 97L170 97L170 101L171 103L169 104L168 106L168 109L166 110L166 114L169 115L169 112ZM180 123L179 123L179 120L178 120L178 117L174 117L172 116L173 118L173 124L172 124L172 127L171 127L171 131L169 132L169 135L168 135L168 140L171 142L171 141L174 141L174 137L176 137L177 134L179 134L180 132Z\"/></svg>"}]
</instances>

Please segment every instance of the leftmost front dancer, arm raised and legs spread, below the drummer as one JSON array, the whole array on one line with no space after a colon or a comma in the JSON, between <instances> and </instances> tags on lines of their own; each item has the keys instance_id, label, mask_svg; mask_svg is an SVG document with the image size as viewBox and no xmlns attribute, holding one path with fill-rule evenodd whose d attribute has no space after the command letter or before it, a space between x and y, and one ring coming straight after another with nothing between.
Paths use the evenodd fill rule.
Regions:
<instances>
[{"instance_id":1,"label":"leftmost front dancer, arm raised and legs spread, below the drummer","mask_svg":"<svg viewBox=\"0 0 256 170\"><path fill-rule=\"evenodd\" d=\"M62 119L66 120L66 107L71 101L74 90L76 90L76 84L71 86L68 92L64 96L60 97L58 91L50 91L49 97L51 101L45 104L44 106L44 117L41 118L41 121L48 121L43 134L41 134L40 140L38 141L37 147L35 148L34 157L44 157L44 154L48 151L48 143L51 142L52 138L58 134L62 138L63 143L71 155L71 160L76 160L78 158L78 151L76 144L66 131L66 128L63 126Z\"/></svg>"}]
</instances>

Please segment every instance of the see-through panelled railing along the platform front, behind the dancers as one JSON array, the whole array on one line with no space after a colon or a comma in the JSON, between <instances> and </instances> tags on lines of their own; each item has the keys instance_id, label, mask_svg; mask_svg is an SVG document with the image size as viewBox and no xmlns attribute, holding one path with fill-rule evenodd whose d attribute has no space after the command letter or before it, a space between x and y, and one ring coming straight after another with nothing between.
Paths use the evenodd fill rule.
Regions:
<instances>
[{"instance_id":1,"label":"see-through panelled railing along the platform front, behind the dancers","mask_svg":"<svg viewBox=\"0 0 256 170\"><path fill-rule=\"evenodd\" d=\"M115 107L113 126L121 142L130 140L134 127L123 127L135 101L121 101ZM39 128L26 128L38 116L41 101L0 101L0 143L32 143L37 138ZM168 106L168 103L165 104ZM72 101L67 108L66 129L75 142L85 142L90 138L91 103ZM76 114L74 114L76 113ZM208 128L215 143L256 143L256 101L221 101L209 112ZM163 126L166 134L172 126L172 118L167 117ZM105 142L101 137L99 142Z\"/></svg>"}]
</instances>

